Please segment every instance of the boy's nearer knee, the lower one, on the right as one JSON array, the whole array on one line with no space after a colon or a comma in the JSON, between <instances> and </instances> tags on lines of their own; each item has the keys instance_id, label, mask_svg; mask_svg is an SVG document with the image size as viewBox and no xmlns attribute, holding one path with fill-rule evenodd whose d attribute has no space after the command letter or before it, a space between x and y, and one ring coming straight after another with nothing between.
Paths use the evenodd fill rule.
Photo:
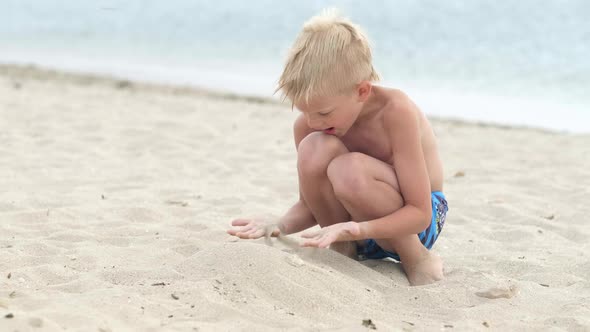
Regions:
<instances>
[{"instance_id":1,"label":"boy's nearer knee, the lower one, on the right","mask_svg":"<svg viewBox=\"0 0 590 332\"><path fill-rule=\"evenodd\" d=\"M351 152L338 156L328 165L328 178L339 199L354 200L362 195L368 184L363 155Z\"/></svg>"}]
</instances>

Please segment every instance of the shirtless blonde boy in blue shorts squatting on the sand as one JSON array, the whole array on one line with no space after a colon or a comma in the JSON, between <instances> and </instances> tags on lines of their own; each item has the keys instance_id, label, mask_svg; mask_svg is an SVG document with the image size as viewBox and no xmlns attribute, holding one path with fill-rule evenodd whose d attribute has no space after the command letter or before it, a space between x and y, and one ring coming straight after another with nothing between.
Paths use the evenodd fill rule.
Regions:
<instances>
[{"instance_id":1,"label":"shirtless blonde boy in blue shorts squatting on the sand","mask_svg":"<svg viewBox=\"0 0 590 332\"><path fill-rule=\"evenodd\" d=\"M435 136L418 107L373 85L378 79L358 26L329 11L305 23L277 89L301 112L299 201L277 224L237 219L229 234L255 239L319 224L303 234L304 246L394 258L412 285L442 279L442 262L428 251L447 211Z\"/></svg>"}]
</instances>

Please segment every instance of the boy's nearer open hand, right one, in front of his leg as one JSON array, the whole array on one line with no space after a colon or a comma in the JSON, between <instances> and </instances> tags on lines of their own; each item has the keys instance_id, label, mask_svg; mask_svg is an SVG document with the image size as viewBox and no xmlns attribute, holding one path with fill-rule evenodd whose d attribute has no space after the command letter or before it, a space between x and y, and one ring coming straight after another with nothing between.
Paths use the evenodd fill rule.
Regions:
<instances>
[{"instance_id":1,"label":"boy's nearer open hand, right one, in front of his leg","mask_svg":"<svg viewBox=\"0 0 590 332\"><path fill-rule=\"evenodd\" d=\"M324 227L318 231L306 232L301 236L308 239L304 247L327 248L334 242L353 241L361 234L357 222L349 221Z\"/></svg>"}]
</instances>

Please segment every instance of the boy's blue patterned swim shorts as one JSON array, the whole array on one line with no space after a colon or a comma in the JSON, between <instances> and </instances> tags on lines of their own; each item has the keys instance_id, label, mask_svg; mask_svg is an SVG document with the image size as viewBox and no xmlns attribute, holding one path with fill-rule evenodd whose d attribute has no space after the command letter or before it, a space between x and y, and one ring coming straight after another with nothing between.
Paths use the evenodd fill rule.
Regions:
<instances>
[{"instance_id":1,"label":"boy's blue patterned swim shorts","mask_svg":"<svg viewBox=\"0 0 590 332\"><path fill-rule=\"evenodd\" d=\"M432 248L434 242L436 242L436 239L442 231L447 211L449 210L447 200L442 192L434 191L430 194L430 197L432 201L432 219L430 221L430 226L418 234L420 242L422 242L428 250ZM373 239L365 240L365 243L362 246L357 245L357 254L359 260L383 259L389 257L398 262L400 261L397 253L383 250Z\"/></svg>"}]
</instances>

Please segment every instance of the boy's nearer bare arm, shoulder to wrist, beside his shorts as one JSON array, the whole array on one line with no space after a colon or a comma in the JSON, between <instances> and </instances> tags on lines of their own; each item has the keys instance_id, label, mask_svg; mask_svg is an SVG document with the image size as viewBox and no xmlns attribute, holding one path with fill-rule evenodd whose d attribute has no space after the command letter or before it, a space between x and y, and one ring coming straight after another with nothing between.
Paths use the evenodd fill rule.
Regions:
<instances>
[{"instance_id":1,"label":"boy's nearer bare arm, shoulder to wrist, beside his shorts","mask_svg":"<svg viewBox=\"0 0 590 332\"><path fill-rule=\"evenodd\" d=\"M420 113L407 97L388 110L385 126L392 142L394 168L404 206L390 215L359 224L360 239L393 238L417 234L432 215L430 181L421 144Z\"/></svg>"}]
</instances>

